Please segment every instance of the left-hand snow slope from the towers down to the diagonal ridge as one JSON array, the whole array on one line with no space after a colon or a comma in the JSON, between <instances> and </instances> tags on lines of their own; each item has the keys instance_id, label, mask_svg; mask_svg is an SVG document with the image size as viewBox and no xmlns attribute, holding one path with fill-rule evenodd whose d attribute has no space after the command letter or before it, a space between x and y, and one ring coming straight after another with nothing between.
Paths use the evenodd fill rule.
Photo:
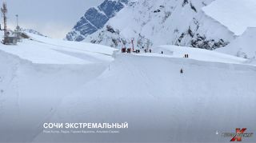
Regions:
<instances>
[{"instance_id":1,"label":"left-hand snow slope from the towers down to the diagonal ridge","mask_svg":"<svg viewBox=\"0 0 256 143\"><path fill-rule=\"evenodd\" d=\"M0 44L0 142L32 141L63 97L114 60L110 47L28 35Z\"/></svg>"}]
</instances>

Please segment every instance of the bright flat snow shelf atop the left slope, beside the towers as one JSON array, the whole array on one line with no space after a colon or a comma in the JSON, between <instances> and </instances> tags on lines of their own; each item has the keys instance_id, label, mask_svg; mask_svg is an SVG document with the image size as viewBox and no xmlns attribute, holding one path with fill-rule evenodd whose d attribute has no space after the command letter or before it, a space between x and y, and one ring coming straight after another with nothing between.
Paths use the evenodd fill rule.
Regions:
<instances>
[{"instance_id":1,"label":"bright flat snow shelf atop the left slope, beside the towers","mask_svg":"<svg viewBox=\"0 0 256 143\"><path fill-rule=\"evenodd\" d=\"M1 46L1 50L33 63L41 64L91 64L94 62L110 62L114 49L94 44L63 42L29 34L18 46Z\"/></svg>"}]
</instances>

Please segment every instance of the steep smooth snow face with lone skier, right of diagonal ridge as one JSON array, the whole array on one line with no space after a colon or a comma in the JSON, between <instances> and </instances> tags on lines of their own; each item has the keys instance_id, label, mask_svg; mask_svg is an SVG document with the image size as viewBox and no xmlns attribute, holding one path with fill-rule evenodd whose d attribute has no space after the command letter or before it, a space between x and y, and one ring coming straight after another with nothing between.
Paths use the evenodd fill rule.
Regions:
<instances>
[{"instance_id":1,"label":"steep smooth snow face with lone skier, right of diagonal ridge","mask_svg":"<svg viewBox=\"0 0 256 143\"><path fill-rule=\"evenodd\" d=\"M110 69L65 97L50 122L127 121L129 129L40 133L34 141L230 141L216 131L256 131L255 79L255 66L118 54Z\"/></svg>"}]
</instances>

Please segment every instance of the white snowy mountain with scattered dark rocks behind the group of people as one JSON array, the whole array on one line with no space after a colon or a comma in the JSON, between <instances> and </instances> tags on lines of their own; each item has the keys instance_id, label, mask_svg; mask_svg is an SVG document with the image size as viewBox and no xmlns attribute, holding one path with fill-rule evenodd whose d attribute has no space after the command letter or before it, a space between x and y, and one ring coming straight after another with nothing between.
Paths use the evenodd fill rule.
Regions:
<instances>
[{"instance_id":1,"label":"white snowy mountain with scattered dark rocks behind the group of people","mask_svg":"<svg viewBox=\"0 0 256 143\"><path fill-rule=\"evenodd\" d=\"M234 33L204 14L202 7L210 2L213 0L129 2L84 41L121 48L130 47L134 38L138 48L178 45L214 50L232 41Z\"/></svg>"}]
</instances>

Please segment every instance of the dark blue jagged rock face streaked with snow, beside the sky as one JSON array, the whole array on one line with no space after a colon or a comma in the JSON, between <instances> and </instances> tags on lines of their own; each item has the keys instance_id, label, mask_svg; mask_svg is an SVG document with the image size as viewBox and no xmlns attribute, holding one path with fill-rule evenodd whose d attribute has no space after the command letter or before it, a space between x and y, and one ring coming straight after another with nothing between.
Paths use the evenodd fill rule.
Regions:
<instances>
[{"instance_id":1,"label":"dark blue jagged rock face streaked with snow, beside the sky","mask_svg":"<svg viewBox=\"0 0 256 143\"><path fill-rule=\"evenodd\" d=\"M66 40L81 42L87 35L102 29L106 22L126 4L127 0L105 0L100 6L90 8L66 35Z\"/></svg>"}]
</instances>

